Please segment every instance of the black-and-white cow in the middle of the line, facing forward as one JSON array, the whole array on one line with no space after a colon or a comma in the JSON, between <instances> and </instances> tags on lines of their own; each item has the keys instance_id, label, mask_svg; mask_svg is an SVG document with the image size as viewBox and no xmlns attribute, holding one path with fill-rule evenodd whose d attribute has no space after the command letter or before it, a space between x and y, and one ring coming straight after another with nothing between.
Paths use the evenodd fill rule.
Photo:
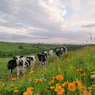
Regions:
<instances>
[{"instance_id":1,"label":"black-and-white cow in the middle of the line, facing forward","mask_svg":"<svg viewBox=\"0 0 95 95\"><path fill-rule=\"evenodd\" d=\"M47 51L43 52L43 53L39 53L37 54L38 56L38 59L39 59L39 62L40 62L40 66L42 67L43 65L46 65L48 64L48 53Z\"/></svg>"}]
</instances>

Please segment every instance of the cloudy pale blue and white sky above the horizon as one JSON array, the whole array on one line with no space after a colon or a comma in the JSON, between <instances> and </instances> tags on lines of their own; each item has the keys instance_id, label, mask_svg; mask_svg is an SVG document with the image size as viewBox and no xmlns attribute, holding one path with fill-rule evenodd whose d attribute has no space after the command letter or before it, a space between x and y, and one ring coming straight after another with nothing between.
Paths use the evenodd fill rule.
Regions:
<instances>
[{"instance_id":1,"label":"cloudy pale blue and white sky above the horizon","mask_svg":"<svg viewBox=\"0 0 95 95\"><path fill-rule=\"evenodd\" d=\"M95 0L0 0L0 41L94 43Z\"/></svg>"}]
</instances>

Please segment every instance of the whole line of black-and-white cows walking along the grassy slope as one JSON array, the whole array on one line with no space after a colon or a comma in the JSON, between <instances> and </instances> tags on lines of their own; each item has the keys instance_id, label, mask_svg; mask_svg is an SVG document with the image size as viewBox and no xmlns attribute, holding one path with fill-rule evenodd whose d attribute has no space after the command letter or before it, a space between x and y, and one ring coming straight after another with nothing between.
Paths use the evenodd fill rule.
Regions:
<instances>
[{"instance_id":1,"label":"whole line of black-and-white cows walking along the grassy slope","mask_svg":"<svg viewBox=\"0 0 95 95\"><path fill-rule=\"evenodd\" d=\"M42 53L37 54L37 57L39 59L39 66L42 67L42 69L43 69L43 65L45 65L46 67L46 65L48 64L48 56L49 55L53 56L53 53L54 51L50 50L50 51L44 51ZM60 58L60 55L67 53L67 48L63 47L60 49L56 49L55 53L57 57ZM35 56L28 56L28 57L16 56L13 57L13 59L9 60L7 67L8 70L10 70L10 74L12 74L14 68L17 68L17 75L19 77L20 71L24 73L28 67L30 68L30 71L33 71L35 61L36 61Z\"/></svg>"}]
</instances>

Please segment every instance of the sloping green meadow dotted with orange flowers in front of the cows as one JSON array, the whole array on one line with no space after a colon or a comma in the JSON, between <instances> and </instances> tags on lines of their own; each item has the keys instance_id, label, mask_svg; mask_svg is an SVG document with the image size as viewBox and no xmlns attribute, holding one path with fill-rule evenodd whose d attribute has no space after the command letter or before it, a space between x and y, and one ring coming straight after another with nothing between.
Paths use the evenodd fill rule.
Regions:
<instances>
[{"instance_id":1,"label":"sloping green meadow dotted with orange flowers in front of the cows","mask_svg":"<svg viewBox=\"0 0 95 95\"><path fill-rule=\"evenodd\" d=\"M0 95L95 95L95 46L52 58L47 68L35 67L20 78L0 77Z\"/></svg>"}]
</instances>

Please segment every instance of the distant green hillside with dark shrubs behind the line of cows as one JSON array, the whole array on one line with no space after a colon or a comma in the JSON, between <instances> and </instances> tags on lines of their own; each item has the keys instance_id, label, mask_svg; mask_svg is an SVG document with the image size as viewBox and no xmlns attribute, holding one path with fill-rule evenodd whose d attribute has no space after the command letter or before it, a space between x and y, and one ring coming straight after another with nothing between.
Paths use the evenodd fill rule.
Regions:
<instances>
[{"instance_id":1,"label":"distant green hillside with dark shrubs behind the line of cows","mask_svg":"<svg viewBox=\"0 0 95 95\"><path fill-rule=\"evenodd\" d=\"M0 57L13 57L16 55L37 54L46 50L67 47L68 51L75 51L85 47L85 45L57 45L57 44L30 44L30 43L10 43L0 42Z\"/></svg>"}]
</instances>

